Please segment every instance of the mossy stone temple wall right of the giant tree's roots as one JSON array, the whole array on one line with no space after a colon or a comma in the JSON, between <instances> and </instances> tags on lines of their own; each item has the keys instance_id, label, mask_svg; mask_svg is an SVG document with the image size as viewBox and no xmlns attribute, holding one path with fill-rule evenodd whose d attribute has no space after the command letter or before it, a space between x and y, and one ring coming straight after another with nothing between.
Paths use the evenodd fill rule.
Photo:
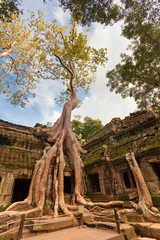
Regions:
<instances>
[{"instance_id":1,"label":"mossy stone temple wall right of the giant tree's roots","mask_svg":"<svg viewBox=\"0 0 160 240\"><path fill-rule=\"evenodd\" d=\"M102 194L109 200L136 199L135 180L125 159L129 151L135 153L153 198L160 196L160 119L153 112L138 111L123 120L114 118L84 148L88 151L83 156L88 194L93 199ZM99 192L90 187L96 174Z\"/></svg>"}]
</instances>

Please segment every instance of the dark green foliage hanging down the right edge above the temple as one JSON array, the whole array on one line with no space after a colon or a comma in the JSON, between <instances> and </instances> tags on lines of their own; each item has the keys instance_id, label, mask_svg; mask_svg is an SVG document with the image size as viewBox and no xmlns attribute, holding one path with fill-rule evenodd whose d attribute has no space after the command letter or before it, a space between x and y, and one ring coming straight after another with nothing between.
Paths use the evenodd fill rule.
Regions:
<instances>
[{"instance_id":1,"label":"dark green foliage hanging down the right edge above the temple","mask_svg":"<svg viewBox=\"0 0 160 240\"><path fill-rule=\"evenodd\" d=\"M107 86L123 98L133 97L141 109L160 107L160 3L154 0L125 2L122 34L132 40L132 55L121 54L121 63L107 73Z\"/></svg>"}]
</instances>

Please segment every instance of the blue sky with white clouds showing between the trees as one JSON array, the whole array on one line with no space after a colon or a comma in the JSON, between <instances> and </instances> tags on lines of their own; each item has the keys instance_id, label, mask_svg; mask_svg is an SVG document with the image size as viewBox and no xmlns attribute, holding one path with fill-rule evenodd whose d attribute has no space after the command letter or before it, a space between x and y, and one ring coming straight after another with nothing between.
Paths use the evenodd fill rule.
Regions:
<instances>
[{"instance_id":1,"label":"blue sky with white clouds showing between the trees","mask_svg":"<svg viewBox=\"0 0 160 240\"><path fill-rule=\"evenodd\" d=\"M48 21L56 19L60 25L68 23L70 19L69 12L64 13L57 0L48 1L47 4L43 4L42 0L23 0L22 8L24 17L27 17L29 9L34 12L41 10ZM107 48L108 62L105 67L98 68L96 82L91 85L88 95L81 96L83 103L73 110L72 119L75 115L81 115L83 121L85 116L89 116L100 119L105 125L113 118L123 119L137 109L132 98L122 99L121 95L110 92L106 87L106 72L120 62L120 53L126 51L129 42L121 36L121 23L112 27L94 23L88 33L88 43L96 49ZM25 108L14 107L1 95L0 119L31 127L36 123L54 123L62 112L62 107L57 106L54 101L60 88L61 84L58 81L42 80L35 91L36 98L29 99Z\"/></svg>"}]
</instances>

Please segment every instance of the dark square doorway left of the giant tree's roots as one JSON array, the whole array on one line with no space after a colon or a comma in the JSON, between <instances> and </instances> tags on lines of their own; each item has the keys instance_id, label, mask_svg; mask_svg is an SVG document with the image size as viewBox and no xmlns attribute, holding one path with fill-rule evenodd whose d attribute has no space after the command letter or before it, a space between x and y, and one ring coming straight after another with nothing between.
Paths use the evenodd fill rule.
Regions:
<instances>
[{"instance_id":1,"label":"dark square doorway left of the giant tree's roots","mask_svg":"<svg viewBox=\"0 0 160 240\"><path fill-rule=\"evenodd\" d=\"M30 179L15 179L11 201L12 203L23 201L28 196L30 183Z\"/></svg>"}]
</instances>

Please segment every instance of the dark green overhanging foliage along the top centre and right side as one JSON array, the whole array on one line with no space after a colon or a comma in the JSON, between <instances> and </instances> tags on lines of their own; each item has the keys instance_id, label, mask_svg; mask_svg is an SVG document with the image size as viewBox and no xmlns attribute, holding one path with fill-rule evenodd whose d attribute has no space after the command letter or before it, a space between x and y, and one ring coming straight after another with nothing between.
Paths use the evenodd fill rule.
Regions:
<instances>
[{"instance_id":1,"label":"dark green overhanging foliage along the top centre and right side","mask_svg":"<svg viewBox=\"0 0 160 240\"><path fill-rule=\"evenodd\" d=\"M105 25L122 20L122 35L132 54L107 73L107 86L122 97L134 97L139 108L160 105L160 1L159 0L59 0L77 20Z\"/></svg>"}]
</instances>

